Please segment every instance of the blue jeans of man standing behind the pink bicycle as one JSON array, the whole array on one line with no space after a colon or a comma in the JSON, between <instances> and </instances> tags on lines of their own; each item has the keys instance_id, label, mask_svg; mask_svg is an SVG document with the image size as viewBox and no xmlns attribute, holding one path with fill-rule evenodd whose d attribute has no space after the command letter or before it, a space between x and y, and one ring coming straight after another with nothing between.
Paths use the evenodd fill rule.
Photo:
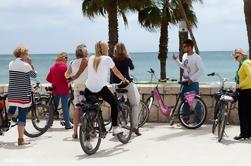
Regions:
<instances>
[{"instance_id":1,"label":"blue jeans of man standing behind the pink bicycle","mask_svg":"<svg viewBox=\"0 0 251 166\"><path fill-rule=\"evenodd\" d=\"M181 95L182 95L183 100L185 100L184 93L190 92L190 91L195 91L195 93L198 95L199 91L200 91L199 83L194 82L191 85L183 85L183 89L181 91ZM183 119L185 121L191 120L191 119L189 119L189 112L190 112L190 107L187 104L187 102L185 102L184 107L183 107ZM201 121L201 104L196 103L196 105L195 105L195 118L192 122L198 124L200 121Z\"/></svg>"}]
</instances>

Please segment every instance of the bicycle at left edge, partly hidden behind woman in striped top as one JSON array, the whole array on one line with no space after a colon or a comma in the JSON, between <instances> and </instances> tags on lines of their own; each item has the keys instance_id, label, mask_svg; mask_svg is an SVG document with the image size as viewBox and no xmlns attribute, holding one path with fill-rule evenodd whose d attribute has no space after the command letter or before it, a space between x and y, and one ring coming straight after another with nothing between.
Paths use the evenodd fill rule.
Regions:
<instances>
[{"instance_id":1,"label":"bicycle at left edge, partly hidden behind woman in striped top","mask_svg":"<svg viewBox=\"0 0 251 166\"><path fill-rule=\"evenodd\" d=\"M33 87L33 89L36 90L39 87L40 83L37 82L36 85ZM48 121L50 121L50 119L48 118L50 117L50 114L52 115L52 112L49 111L48 107L39 102L39 95L38 96L37 95L38 93L32 91L31 93L32 104L28 108L27 120L26 120L26 121L31 120L31 124L33 125L34 128L26 126L24 130L24 134L30 138L41 136L48 130L49 128ZM10 128L17 125L17 123L12 125L10 120L8 119L7 116L8 113L6 108L7 96L8 96L7 94L3 94L0 96L0 101L2 103L1 104L2 106L0 108L0 133L2 133L2 135ZM12 120L13 122L16 122L16 118L13 118Z\"/></svg>"}]
</instances>

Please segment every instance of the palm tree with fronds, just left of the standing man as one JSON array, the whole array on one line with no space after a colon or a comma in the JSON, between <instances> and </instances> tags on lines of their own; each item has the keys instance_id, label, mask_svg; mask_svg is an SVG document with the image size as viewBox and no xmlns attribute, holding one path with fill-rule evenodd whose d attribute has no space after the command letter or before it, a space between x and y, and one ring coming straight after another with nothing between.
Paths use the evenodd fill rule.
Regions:
<instances>
[{"instance_id":1,"label":"palm tree with fronds, just left of the standing man","mask_svg":"<svg viewBox=\"0 0 251 166\"><path fill-rule=\"evenodd\" d=\"M168 26L175 23L174 11L169 0L155 0L155 3L139 11L139 23L149 31L160 28L159 55L160 80L166 80L166 59L168 53Z\"/></svg>"}]
</instances>

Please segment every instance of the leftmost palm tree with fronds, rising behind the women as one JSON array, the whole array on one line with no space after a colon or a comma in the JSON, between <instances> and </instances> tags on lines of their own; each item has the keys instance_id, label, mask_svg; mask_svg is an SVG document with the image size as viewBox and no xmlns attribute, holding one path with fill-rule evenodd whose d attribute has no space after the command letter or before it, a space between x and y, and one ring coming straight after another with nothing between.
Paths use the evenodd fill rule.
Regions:
<instances>
[{"instance_id":1,"label":"leftmost palm tree with fronds, rising behind the women","mask_svg":"<svg viewBox=\"0 0 251 166\"><path fill-rule=\"evenodd\" d=\"M136 11L141 7L151 3L151 0L84 0L82 3L82 11L84 16L90 19L95 16L108 15L108 36L109 36L109 56L113 56L113 49L118 42L118 15L121 15L125 25L127 11Z\"/></svg>"}]
</instances>

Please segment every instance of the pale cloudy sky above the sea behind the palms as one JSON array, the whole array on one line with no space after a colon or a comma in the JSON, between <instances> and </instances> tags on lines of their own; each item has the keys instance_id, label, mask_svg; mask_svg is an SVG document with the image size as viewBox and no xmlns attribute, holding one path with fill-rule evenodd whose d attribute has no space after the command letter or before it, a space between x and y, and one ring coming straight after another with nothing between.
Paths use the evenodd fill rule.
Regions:
<instances>
[{"instance_id":1,"label":"pale cloudy sky above the sea behind the palms","mask_svg":"<svg viewBox=\"0 0 251 166\"><path fill-rule=\"evenodd\" d=\"M108 40L108 20L90 20L81 11L82 0L0 0L0 54L11 54L19 44L30 53L73 53L84 43L89 52L99 40ZM243 0L204 0L195 3L198 27L194 35L201 51L248 49ZM128 13L128 26L119 19L119 41L129 52L157 52L159 31L149 32ZM169 28L169 51L178 51L178 27Z\"/></svg>"}]
</instances>

